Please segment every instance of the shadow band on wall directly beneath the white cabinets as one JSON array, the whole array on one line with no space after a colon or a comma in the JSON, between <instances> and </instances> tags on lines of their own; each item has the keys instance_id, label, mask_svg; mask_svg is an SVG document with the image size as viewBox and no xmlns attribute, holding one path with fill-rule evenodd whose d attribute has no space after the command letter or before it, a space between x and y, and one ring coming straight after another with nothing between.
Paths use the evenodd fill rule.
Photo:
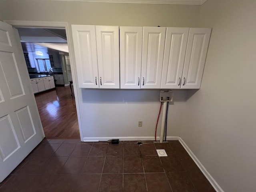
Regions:
<instances>
[{"instance_id":1,"label":"shadow band on wall directly beneath the white cabinets","mask_svg":"<svg viewBox=\"0 0 256 192\"><path fill-rule=\"evenodd\" d=\"M173 90L173 102L185 102L188 90ZM82 89L83 103L158 102L160 90Z\"/></svg>"}]
</instances>

